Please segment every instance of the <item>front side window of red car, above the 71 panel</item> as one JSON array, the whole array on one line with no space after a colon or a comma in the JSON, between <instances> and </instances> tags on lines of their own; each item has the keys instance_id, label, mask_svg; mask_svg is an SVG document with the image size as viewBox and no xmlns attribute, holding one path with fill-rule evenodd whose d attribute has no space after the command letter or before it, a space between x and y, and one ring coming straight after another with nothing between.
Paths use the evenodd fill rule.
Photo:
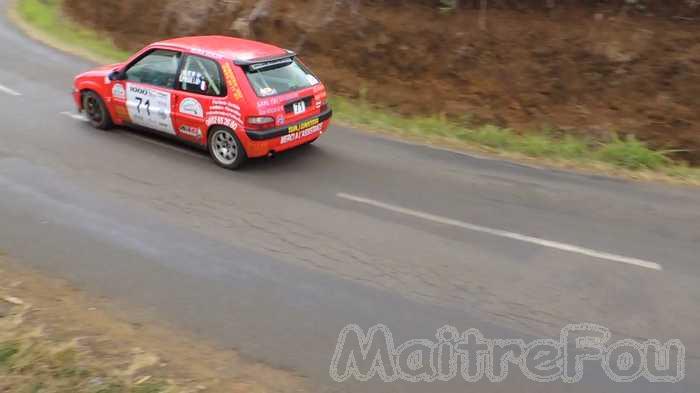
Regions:
<instances>
[{"instance_id":1,"label":"front side window of red car, above the 71 panel","mask_svg":"<svg viewBox=\"0 0 700 393\"><path fill-rule=\"evenodd\" d=\"M156 49L126 70L126 79L153 86L173 88L180 65L180 52Z\"/></svg>"}]
</instances>

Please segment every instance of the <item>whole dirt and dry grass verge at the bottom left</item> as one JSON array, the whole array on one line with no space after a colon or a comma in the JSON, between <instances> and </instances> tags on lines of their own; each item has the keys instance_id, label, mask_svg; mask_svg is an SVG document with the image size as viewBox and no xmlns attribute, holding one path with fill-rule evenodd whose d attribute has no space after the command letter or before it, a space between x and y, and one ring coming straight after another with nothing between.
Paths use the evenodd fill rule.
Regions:
<instances>
[{"instance_id":1,"label":"whole dirt and dry grass verge at the bottom left","mask_svg":"<svg viewBox=\"0 0 700 393\"><path fill-rule=\"evenodd\" d=\"M87 296L0 252L0 392L305 392L302 378ZM139 318L145 316L136 311Z\"/></svg>"}]
</instances>

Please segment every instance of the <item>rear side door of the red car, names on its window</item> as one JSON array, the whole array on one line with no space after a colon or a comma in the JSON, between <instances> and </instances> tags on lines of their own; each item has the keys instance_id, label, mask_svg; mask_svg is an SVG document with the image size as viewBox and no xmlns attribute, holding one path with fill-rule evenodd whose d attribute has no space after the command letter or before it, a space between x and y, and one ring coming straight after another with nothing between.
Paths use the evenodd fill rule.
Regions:
<instances>
[{"instance_id":1,"label":"rear side door of the red car, names on its window","mask_svg":"<svg viewBox=\"0 0 700 393\"><path fill-rule=\"evenodd\" d=\"M206 144L205 112L226 106L226 84L221 66L213 59L186 54L177 81L173 120L177 135Z\"/></svg>"}]
</instances>

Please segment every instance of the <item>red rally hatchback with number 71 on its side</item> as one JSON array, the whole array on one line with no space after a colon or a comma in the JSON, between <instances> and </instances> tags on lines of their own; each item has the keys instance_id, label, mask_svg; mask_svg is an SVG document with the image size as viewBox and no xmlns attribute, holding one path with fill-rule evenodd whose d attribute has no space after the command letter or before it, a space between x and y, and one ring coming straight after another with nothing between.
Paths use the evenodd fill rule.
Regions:
<instances>
[{"instance_id":1,"label":"red rally hatchback with number 71 on its side","mask_svg":"<svg viewBox=\"0 0 700 393\"><path fill-rule=\"evenodd\" d=\"M222 36L149 45L78 75L73 96L97 128L170 134L229 169L315 141L332 115L326 88L293 52Z\"/></svg>"}]
</instances>

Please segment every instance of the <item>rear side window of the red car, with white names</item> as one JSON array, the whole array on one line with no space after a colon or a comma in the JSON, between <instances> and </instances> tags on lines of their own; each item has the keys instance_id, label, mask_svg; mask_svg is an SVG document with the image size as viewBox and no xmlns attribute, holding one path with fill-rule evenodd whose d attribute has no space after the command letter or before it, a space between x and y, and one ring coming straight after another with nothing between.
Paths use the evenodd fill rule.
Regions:
<instances>
[{"instance_id":1,"label":"rear side window of the red car, with white names","mask_svg":"<svg viewBox=\"0 0 700 393\"><path fill-rule=\"evenodd\" d=\"M190 93L216 97L226 95L219 64L201 56L187 55L177 83L180 90Z\"/></svg>"}]
</instances>

